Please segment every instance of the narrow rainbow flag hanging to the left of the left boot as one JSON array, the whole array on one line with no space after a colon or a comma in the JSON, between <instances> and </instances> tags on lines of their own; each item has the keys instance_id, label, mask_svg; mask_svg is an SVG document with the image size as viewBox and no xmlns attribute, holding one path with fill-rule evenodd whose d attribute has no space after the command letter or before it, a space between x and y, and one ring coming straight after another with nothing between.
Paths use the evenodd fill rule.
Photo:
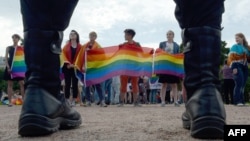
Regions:
<instances>
[{"instance_id":1,"label":"narrow rainbow flag hanging to the left of the left boot","mask_svg":"<svg viewBox=\"0 0 250 141\"><path fill-rule=\"evenodd\" d=\"M25 77L26 64L24 60L24 48L18 46L15 48L14 57L11 65L11 78Z\"/></svg>"}]
</instances>

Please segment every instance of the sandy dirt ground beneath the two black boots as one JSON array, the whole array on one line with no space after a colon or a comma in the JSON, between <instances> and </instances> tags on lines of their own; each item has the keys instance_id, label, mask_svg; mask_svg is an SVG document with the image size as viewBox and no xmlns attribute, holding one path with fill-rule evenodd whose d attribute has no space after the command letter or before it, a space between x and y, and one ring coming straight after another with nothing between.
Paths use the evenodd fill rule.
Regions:
<instances>
[{"instance_id":1,"label":"sandy dirt ground beneath the two black boots","mask_svg":"<svg viewBox=\"0 0 250 141\"><path fill-rule=\"evenodd\" d=\"M250 125L250 107L226 105L228 124ZM143 105L143 107L99 106L75 109L83 117L80 128L59 131L45 137L17 134L21 106L0 105L0 141L196 141L182 128L184 105Z\"/></svg>"}]
</instances>

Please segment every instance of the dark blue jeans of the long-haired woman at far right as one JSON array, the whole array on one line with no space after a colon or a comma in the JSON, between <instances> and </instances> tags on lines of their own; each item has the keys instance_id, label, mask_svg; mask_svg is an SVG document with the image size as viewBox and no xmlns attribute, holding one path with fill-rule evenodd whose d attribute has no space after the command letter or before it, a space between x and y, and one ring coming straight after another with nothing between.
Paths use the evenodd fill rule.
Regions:
<instances>
[{"instance_id":1,"label":"dark blue jeans of the long-haired woman at far right","mask_svg":"<svg viewBox=\"0 0 250 141\"><path fill-rule=\"evenodd\" d=\"M244 89L248 78L248 67L238 64L236 65L236 69L237 74L234 74L235 87L233 100L234 104L244 104Z\"/></svg>"}]
</instances>

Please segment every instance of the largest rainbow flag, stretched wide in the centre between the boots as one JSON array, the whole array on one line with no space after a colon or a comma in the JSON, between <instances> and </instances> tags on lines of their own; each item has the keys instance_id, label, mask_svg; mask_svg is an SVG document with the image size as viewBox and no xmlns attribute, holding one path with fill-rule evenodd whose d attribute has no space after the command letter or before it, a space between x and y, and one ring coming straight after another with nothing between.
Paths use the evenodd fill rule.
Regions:
<instances>
[{"instance_id":1,"label":"largest rainbow flag, stretched wide in the centre between the boots","mask_svg":"<svg viewBox=\"0 0 250 141\"><path fill-rule=\"evenodd\" d=\"M152 48L113 46L87 51L86 86L118 75L151 76Z\"/></svg>"}]
</instances>

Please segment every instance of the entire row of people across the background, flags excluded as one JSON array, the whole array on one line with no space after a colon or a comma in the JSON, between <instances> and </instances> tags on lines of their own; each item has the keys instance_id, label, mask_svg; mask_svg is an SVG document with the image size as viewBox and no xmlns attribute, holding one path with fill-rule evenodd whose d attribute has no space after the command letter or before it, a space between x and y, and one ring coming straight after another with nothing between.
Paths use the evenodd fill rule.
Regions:
<instances>
[{"instance_id":1,"label":"entire row of people across the background, flags excluded","mask_svg":"<svg viewBox=\"0 0 250 141\"><path fill-rule=\"evenodd\" d=\"M131 43L132 45L134 44L135 47L140 47L138 42L133 41L133 37L135 36L133 29L126 29L124 33L127 42L121 45ZM180 53L179 45L174 42L174 32L172 30L167 31L166 38L166 41L160 42L159 48L171 54ZM12 39L13 45L6 48L5 60L8 61L6 61L4 73L4 79L7 81L8 86L7 94L9 101L11 101L13 95L13 81L19 82L20 94L22 97L24 96L24 78L11 78L10 76L15 47L21 46L18 45L21 40L20 35L14 34ZM62 92L71 106L76 106L77 102L80 103L81 106L86 107L91 106L93 102L101 107L107 107L110 104L123 106L123 104L132 103L134 103L135 106L160 103L161 106L164 107L166 103L174 104L175 106L185 103L186 93L183 78L167 74L157 74L155 76L158 79L157 82L155 82L157 84L151 84L151 78L147 76L116 76L100 84L85 87L76 77L74 64L75 61L79 59L77 57L82 57L85 51L101 48L99 43L96 42L96 39L97 33L90 32L89 41L81 45L79 33L72 30L69 35L69 40L63 47ZM221 69L223 79L222 97L225 104L243 106L245 104L244 88L248 78L247 59L249 58L249 48L244 34L236 34L235 40L236 44L230 48L229 56L225 59ZM235 50L241 53L241 55ZM246 54L244 54L244 51ZM81 55L78 56L78 54ZM82 67L84 71L84 65ZM11 107L12 103L9 102L8 106Z\"/></svg>"}]
</instances>

